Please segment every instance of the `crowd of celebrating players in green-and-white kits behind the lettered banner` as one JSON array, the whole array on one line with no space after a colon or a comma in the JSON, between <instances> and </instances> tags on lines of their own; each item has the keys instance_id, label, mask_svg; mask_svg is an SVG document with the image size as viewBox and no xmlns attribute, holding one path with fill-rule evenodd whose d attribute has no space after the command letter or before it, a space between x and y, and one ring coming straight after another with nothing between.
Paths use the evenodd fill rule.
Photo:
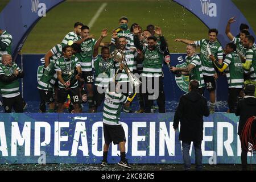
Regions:
<instances>
[{"instance_id":1,"label":"crowd of celebrating players in green-and-white kits behind the lettered banner","mask_svg":"<svg viewBox=\"0 0 256 182\"><path fill-rule=\"evenodd\" d=\"M204 94L205 88L209 91L211 113L216 105L216 79L223 75L222 72L225 72L228 79L230 113L235 111L237 97L241 96L243 85L256 85L254 38L249 34L246 24L241 24L240 34L233 36L230 24L235 21L230 18L226 26L226 35L231 42L226 44L224 49L225 59L223 49L217 42L216 29L209 30L208 39L175 39L175 42L187 44L187 67L170 67L170 71L176 76L187 75L189 80L199 81L200 94ZM0 93L3 105L6 112L11 112L13 107L16 112L22 112L22 98L19 96L17 83L24 73L12 61L8 63L11 59L11 35L5 30L0 30L0 34ZM134 93L137 92L140 105L137 113L152 112L154 100L158 104L159 113L165 113L162 66L170 53L161 28L148 25L146 30L143 30L134 23L129 29L128 19L122 16L119 19L119 27L111 34L110 42L102 42L108 36L108 30L104 29L96 40L90 35L88 26L77 22L74 31L65 35L60 44L47 52L42 76L38 78L41 112L63 112L68 95L71 98L69 112L81 113L82 102L88 103L90 113L97 112L98 106L104 101L105 93L109 92L110 83L114 82L115 86L118 84L119 92L128 98L134 98ZM196 55L196 46L200 47L200 57ZM101 52L98 55L100 47ZM124 65L111 56L115 49L122 50L130 71L141 75L142 85L139 90L133 88L133 82L123 69ZM154 93L151 90L154 90ZM19 98L16 98L18 96ZM131 102L126 102L123 112L130 113L130 105ZM106 103L104 110L105 114L108 113L106 116L111 117L112 110Z\"/></svg>"}]
</instances>

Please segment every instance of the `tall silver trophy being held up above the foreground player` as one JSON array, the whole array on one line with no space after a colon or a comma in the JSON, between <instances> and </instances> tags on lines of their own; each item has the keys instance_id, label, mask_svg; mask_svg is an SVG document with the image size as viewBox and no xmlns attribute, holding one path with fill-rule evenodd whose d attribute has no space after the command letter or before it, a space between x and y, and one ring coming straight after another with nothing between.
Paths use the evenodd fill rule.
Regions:
<instances>
[{"instance_id":1,"label":"tall silver trophy being held up above the foreground player","mask_svg":"<svg viewBox=\"0 0 256 182\"><path fill-rule=\"evenodd\" d=\"M127 76L129 77L130 82L135 86L139 86L141 84L141 81L139 81L139 78L135 77L133 73L131 73L126 61L125 61L125 53L121 49L115 49L111 53L112 58L114 61L117 61L119 64L123 64L123 69L125 70Z\"/></svg>"}]
</instances>

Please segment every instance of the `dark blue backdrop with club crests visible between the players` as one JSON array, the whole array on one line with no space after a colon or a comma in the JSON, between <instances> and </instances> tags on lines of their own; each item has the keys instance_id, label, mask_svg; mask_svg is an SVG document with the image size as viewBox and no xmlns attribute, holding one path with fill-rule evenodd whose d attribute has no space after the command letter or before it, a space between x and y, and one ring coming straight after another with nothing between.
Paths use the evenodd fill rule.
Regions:
<instances>
[{"instance_id":1,"label":"dark blue backdrop with club crests visible between the players","mask_svg":"<svg viewBox=\"0 0 256 182\"><path fill-rule=\"evenodd\" d=\"M185 53L171 53L171 65L182 65L185 62ZM39 93L36 88L37 73L39 66L44 64L43 54L24 54L18 57L16 61L18 65L22 65L22 69L25 73L23 78L23 97L26 101L39 101ZM164 73L164 92L166 95L166 101L179 101L181 95L185 94L188 90L188 78L179 80L175 78L175 75L168 70L167 65L163 65ZM40 74L40 73L39 73ZM184 76L183 76L184 77ZM217 80L217 101L228 100L228 82L225 76L220 76ZM205 92L205 97L209 97L208 92Z\"/></svg>"}]
</instances>

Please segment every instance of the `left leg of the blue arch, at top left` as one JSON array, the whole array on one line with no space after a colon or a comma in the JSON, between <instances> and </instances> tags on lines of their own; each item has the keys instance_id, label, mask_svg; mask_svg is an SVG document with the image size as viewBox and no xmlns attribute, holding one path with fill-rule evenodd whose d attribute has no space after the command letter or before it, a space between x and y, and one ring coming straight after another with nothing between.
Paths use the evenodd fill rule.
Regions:
<instances>
[{"instance_id":1,"label":"left leg of the blue arch, at top left","mask_svg":"<svg viewBox=\"0 0 256 182\"><path fill-rule=\"evenodd\" d=\"M64 0L11 0L0 13L0 27L13 36L13 57L16 58L28 34L46 13Z\"/></svg>"}]
</instances>

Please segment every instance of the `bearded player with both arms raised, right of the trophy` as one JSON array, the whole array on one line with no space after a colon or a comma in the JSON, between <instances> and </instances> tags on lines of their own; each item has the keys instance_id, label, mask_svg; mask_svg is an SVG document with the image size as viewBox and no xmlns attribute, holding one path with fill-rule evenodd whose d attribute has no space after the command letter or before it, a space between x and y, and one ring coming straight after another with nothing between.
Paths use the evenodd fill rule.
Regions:
<instances>
[{"instance_id":1,"label":"bearded player with both arms raised, right of the trophy","mask_svg":"<svg viewBox=\"0 0 256 182\"><path fill-rule=\"evenodd\" d=\"M159 113L165 113L165 96L163 90L163 76L162 76L162 64L163 55L166 50L166 40L162 35L162 30L160 27L155 28L155 34L159 36L160 45L157 44L157 38L155 36L149 36L147 38L148 46L144 46L139 42L138 38L139 28L134 27L134 44L140 51L144 53L143 60L143 79L146 81L146 93L144 94L144 106L145 113L151 112L151 106L153 105L153 100L156 99L159 106ZM152 85L149 85L151 83ZM156 87L155 88L155 83ZM157 84L158 83L158 84ZM151 87L150 87L151 86ZM149 89L154 89L154 95L149 93Z\"/></svg>"}]
</instances>

